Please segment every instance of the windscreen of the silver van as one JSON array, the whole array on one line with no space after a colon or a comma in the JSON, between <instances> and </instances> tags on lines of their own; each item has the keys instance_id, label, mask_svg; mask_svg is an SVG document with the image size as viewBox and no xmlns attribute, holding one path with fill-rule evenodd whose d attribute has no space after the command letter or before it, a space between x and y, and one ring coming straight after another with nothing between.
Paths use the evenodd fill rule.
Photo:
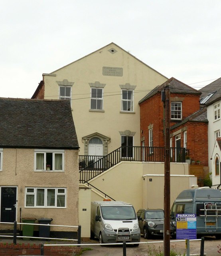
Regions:
<instances>
[{"instance_id":1,"label":"windscreen of the silver van","mask_svg":"<svg viewBox=\"0 0 221 256\"><path fill-rule=\"evenodd\" d=\"M136 213L132 206L101 206L101 213L105 220L135 220Z\"/></svg>"}]
</instances>

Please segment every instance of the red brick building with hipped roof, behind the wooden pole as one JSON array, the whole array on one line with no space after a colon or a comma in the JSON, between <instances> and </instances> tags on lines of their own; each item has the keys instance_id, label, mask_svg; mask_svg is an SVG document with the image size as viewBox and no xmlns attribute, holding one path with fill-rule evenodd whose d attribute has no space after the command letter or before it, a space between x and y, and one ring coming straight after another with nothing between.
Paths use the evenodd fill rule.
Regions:
<instances>
[{"instance_id":1,"label":"red brick building with hipped roof, behind the wooden pole","mask_svg":"<svg viewBox=\"0 0 221 256\"><path fill-rule=\"evenodd\" d=\"M207 112L200 109L201 92L170 78L140 100L141 146L164 146L164 102L162 91L170 84L170 146L185 148L190 158L208 166ZM175 161L178 161L179 152Z\"/></svg>"}]
</instances>

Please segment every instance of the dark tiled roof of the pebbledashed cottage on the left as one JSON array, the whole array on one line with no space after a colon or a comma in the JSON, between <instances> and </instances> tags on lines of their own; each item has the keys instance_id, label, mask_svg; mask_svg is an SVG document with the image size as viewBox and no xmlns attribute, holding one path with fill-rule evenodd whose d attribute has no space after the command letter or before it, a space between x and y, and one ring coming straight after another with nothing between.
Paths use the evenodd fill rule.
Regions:
<instances>
[{"instance_id":1,"label":"dark tiled roof of the pebbledashed cottage on the left","mask_svg":"<svg viewBox=\"0 0 221 256\"><path fill-rule=\"evenodd\" d=\"M69 101L0 98L0 110L0 148L79 148Z\"/></svg>"}]
</instances>

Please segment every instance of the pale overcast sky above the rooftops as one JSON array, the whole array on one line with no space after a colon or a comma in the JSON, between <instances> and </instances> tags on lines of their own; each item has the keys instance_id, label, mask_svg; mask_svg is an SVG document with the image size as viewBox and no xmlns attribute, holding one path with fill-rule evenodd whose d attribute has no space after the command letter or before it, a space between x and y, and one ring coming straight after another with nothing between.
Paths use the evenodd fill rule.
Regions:
<instances>
[{"instance_id":1,"label":"pale overcast sky above the rooftops","mask_svg":"<svg viewBox=\"0 0 221 256\"><path fill-rule=\"evenodd\" d=\"M220 14L221 0L2 0L0 97L31 98L42 73L111 42L199 89L221 77Z\"/></svg>"}]
</instances>

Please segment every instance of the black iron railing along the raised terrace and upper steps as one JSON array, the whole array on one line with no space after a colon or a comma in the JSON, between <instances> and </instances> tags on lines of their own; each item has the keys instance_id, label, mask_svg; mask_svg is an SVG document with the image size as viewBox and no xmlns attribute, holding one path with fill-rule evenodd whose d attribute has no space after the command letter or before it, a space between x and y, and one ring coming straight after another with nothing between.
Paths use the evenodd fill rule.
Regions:
<instances>
[{"instance_id":1,"label":"black iron railing along the raised terrace and upper steps","mask_svg":"<svg viewBox=\"0 0 221 256\"><path fill-rule=\"evenodd\" d=\"M185 148L170 148L171 162L185 162ZM85 183L121 161L164 162L164 147L121 146L107 156L79 156L79 181Z\"/></svg>"}]
</instances>

